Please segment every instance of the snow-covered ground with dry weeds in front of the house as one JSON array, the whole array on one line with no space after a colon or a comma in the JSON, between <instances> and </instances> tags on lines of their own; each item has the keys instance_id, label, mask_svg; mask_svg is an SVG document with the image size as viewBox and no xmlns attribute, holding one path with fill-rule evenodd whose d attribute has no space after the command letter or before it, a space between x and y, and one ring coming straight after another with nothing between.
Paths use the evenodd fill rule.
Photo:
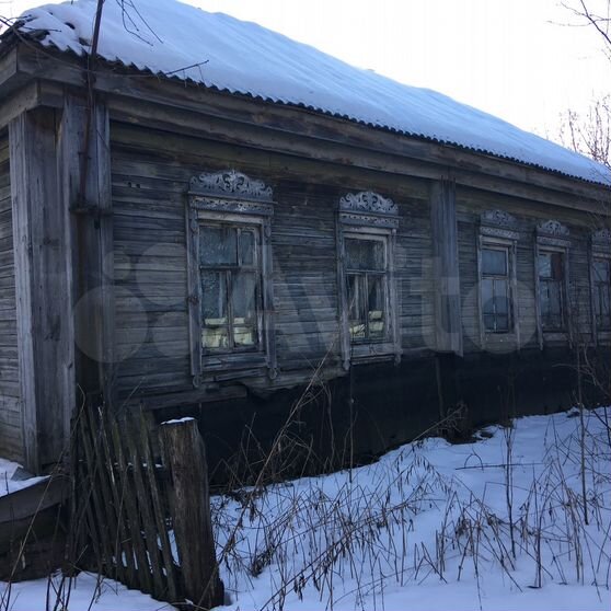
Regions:
<instances>
[{"instance_id":1,"label":"snow-covered ground with dry weeds in front of the house","mask_svg":"<svg viewBox=\"0 0 611 611\"><path fill-rule=\"evenodd\" d=\"M351 472L214 497L229 609L608 611L607 415L585 417L588 524L576 411L491 427L474 443L431 438ZM68 609L84 611L95 577L76 585ZM13 585L8 609L43 610L46 596L46 580ZM91 609L119 608L169 609L105 580Z\"/></svg>"}]
</instances>

